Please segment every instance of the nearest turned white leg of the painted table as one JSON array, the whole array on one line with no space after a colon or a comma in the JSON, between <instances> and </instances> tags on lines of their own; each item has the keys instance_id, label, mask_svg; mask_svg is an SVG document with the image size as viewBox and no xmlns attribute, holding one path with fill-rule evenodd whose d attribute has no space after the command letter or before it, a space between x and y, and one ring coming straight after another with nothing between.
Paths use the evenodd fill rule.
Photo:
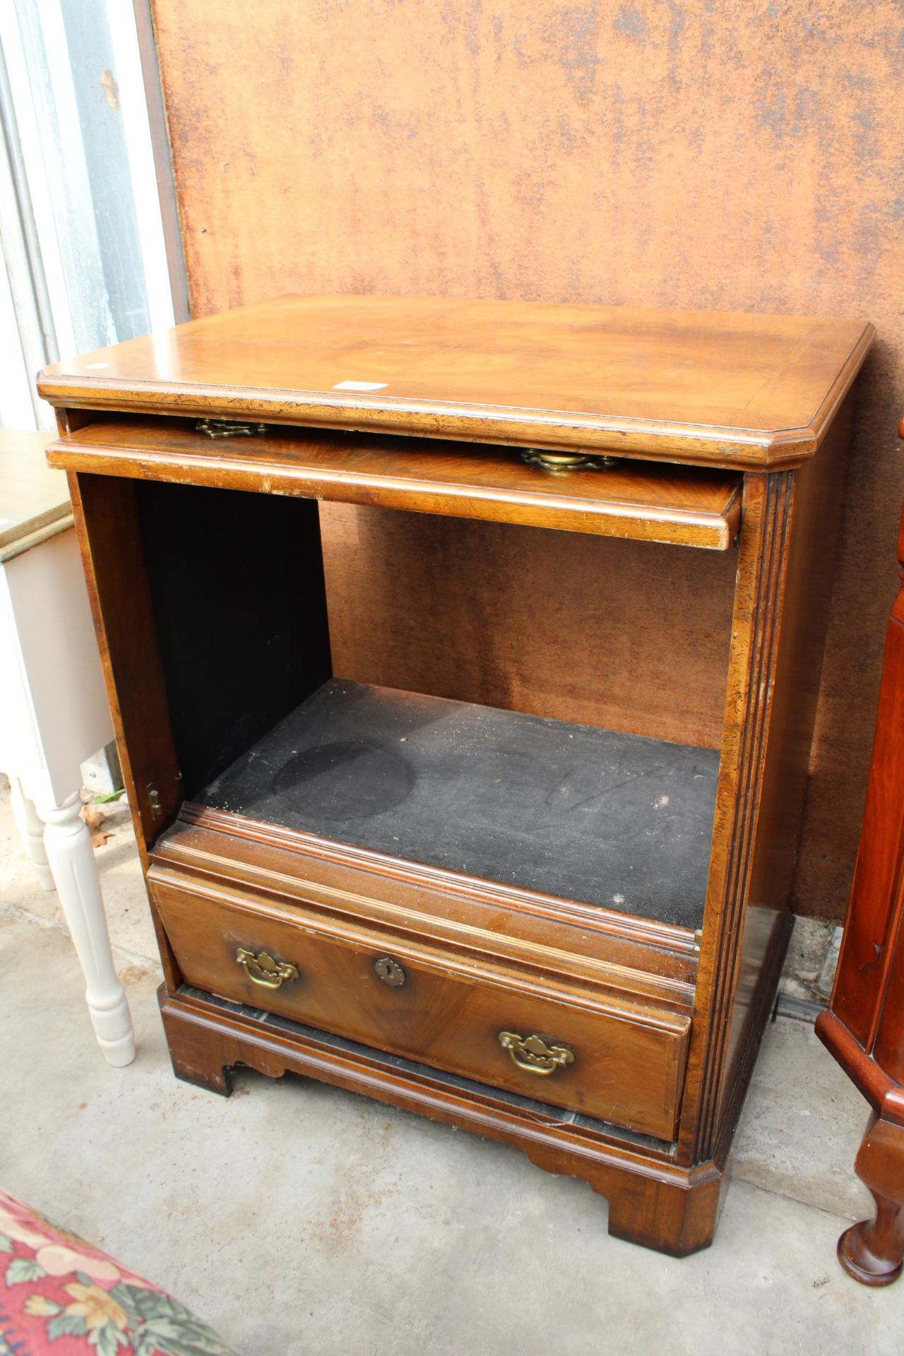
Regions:
<instances>
[{"instance_id":1,"label":"nearest turned white leg of the painted table","mask_svg":"<svg viewBox=\"0 0 904 1356\"><path fill-rule=\"evenodd\" d=\"M98 865L80 810L79 795L69 796L61 805L38 805L46 826L47 861L85 976L85 998L98 1044L111 1064L130 1064L136 1058L131 1016L112 967Z\"/></svg>"}]
</instances>

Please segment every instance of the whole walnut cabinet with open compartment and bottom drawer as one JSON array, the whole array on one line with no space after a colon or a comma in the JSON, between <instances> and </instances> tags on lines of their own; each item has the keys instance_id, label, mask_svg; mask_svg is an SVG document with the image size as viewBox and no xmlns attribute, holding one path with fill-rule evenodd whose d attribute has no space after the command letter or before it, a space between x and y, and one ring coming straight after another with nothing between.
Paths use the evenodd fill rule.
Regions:
<instances>
[{"instance_id":1,"label":"whole walnut cabinet with open compartment and bottom drawer","mask_svg":"<svg viewBox=\"0 0 904 1356\"><path fill-rule=\"evenodd\" d=\"M41 374L180 1078L324 1079L710 1242L871 336L282 297Z\"/></svg>"}]
</instances>

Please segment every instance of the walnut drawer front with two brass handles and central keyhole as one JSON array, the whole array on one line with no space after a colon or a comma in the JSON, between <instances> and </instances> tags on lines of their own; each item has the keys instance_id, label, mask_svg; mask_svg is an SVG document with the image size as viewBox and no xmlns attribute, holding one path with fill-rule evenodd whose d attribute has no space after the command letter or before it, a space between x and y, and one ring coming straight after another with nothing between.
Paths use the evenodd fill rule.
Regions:
<instances>
[{"instance_id":1,"label":"walnut drawer front with two brass handles and central keyhole","mask_svg":"<svg viewBox=\"0 0 904 1356\"><path fill-rule=\"evenodd\" d=\"M187 983L671 1140L690 1017L152 868Z\"/></svg>"}]
</instances>

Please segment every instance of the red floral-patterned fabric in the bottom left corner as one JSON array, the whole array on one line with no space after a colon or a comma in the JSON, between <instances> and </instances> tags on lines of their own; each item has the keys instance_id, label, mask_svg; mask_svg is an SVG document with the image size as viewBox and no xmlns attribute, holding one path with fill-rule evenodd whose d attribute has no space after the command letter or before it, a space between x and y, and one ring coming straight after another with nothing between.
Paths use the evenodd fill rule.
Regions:
<instances>
[{"instance_id":1,"label":"red floral-patterned fabric in the bottom left corner","mask_svg":"<svg viewBox=\"0 0 904 1356\"><path fill-rule=\"evenodd\" d=\"M0 1356L236 1356L190 1310L0 1191Z\"/></svg>"}]
</instances>

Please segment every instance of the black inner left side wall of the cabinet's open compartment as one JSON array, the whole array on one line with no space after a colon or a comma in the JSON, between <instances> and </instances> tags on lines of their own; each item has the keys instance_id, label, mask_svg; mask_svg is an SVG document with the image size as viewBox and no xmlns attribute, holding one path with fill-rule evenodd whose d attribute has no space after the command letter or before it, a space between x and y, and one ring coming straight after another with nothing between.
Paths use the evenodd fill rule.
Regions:
<instances>
[{"instance_id":1,"label":"black inner left side wall of the cabinet's open compartment","mask_svg":"<svg viewBox=\"0 0 904 1356\"><path fill-rule=\"evenodd\" d=\"M190 797L331 675L317 504L156 481L136 498Z\"/></svg>"}]
</instances>

